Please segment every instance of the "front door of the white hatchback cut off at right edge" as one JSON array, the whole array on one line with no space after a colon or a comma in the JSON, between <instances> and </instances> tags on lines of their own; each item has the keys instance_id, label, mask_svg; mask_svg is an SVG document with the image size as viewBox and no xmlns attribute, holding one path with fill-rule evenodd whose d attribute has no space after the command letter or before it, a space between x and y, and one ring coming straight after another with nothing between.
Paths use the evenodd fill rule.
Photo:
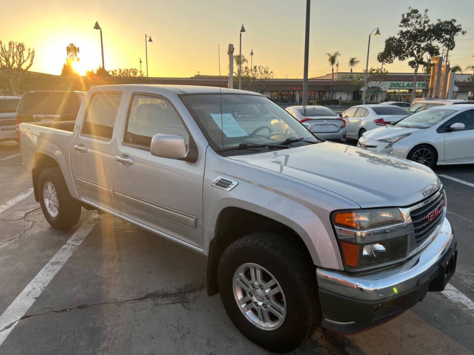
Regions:
<instances>
[{"instance_id":1,"label":"front door of the white hatchback cut off at right edge","mask_svg":"<svg viewBox=\"0 0 474 355\"><path fill-rule=\"evenodd\" d=\"M464 130L449 130L449 126L457 122L464 124ZM444 161L474 161L474 109L460 112L445 124Z\"/></svg>"}]
</instances>

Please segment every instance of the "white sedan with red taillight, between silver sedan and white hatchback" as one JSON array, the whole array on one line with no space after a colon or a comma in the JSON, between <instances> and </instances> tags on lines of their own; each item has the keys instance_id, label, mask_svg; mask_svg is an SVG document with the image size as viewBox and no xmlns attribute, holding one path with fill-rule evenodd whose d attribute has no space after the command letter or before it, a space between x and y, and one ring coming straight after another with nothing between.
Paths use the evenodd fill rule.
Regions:
<instances>
[{"instance_id":1,"label":"white sedan with red taillight, between silver sedan and white hatchback","mask_svg":"<svg viewBox=\"0 0 474 355\"><path fill-rule=\"evenodd\" d=\"M358 140L365 132L393 124L407 115L407 111L401 107L374 104L352 106L341 117L347 122L347 138Z\"/></svg>"}]
</instances>

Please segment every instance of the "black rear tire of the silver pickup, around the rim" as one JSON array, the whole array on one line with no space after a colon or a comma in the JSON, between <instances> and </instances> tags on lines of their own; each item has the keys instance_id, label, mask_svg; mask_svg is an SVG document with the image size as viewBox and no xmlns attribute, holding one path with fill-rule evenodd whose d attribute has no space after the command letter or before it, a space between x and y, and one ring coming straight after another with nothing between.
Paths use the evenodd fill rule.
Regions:
<instances>
[{"instance_id":1,"label":"black rear tire of the silver pickup, around the rim","mask_svg":"<svg viewBox=\"0 0 474 355\"><path fill-rule=\"evenodd\" d=\"M46 209L43 187L49 182L54 186L58 200L58 213L51 215ZM38 179L38 192L40 196L41 211L48 223L56 229L68 229L74 226L80 218L81 205L78 200L71 197L66 181L59 168L49 168L41 172Z\"/></svg>"}]
</instances>

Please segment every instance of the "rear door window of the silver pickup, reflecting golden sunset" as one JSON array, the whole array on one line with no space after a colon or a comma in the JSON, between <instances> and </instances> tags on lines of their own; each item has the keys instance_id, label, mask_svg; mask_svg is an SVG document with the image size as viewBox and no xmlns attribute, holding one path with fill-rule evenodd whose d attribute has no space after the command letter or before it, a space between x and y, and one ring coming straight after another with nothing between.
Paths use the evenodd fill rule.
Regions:
<instances>
[{"instance_id":1,"label":"rear door window of the silver pickup, reflecting golden sunset","mask_svg":"<svg viewBox=\"0 0 474 355\"><path fill-rule=\"evenodd\" d=\"M97 93L92 96L81 134L111 140L121 97L121 93Z\"/></svg>"}]
</instances>

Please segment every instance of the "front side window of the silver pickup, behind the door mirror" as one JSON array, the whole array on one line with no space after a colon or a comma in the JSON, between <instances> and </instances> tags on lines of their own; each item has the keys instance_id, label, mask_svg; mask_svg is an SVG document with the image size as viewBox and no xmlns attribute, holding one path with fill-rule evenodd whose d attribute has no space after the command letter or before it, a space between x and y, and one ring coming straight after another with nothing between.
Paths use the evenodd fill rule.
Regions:
<instances>
[{"instance_id":1,"label":"front side window of the silver pickup, behind the door mirror","mask_svg":"<svg viewBox=\"0 0 474 355\"><path fill-rule=\"evenodd\" d=\"M181 136L189 147L188 131L176 109L167 100L134 95L123 142L150 149L152 137L158 133Z\"/></svg>"}]
</instances>

